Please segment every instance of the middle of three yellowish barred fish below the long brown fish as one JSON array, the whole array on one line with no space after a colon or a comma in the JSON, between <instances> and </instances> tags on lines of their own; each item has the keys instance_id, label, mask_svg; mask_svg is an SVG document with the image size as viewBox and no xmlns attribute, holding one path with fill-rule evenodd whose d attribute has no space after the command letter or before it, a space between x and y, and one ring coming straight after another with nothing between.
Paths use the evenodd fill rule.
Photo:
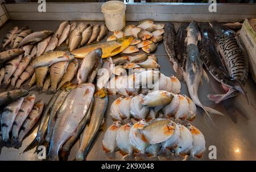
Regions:
<instances>
[{"instance_id":1,"label":"middle of three yellowish barred fish below the long brown fish","mask_svg":"<svg viewBox=\"0 0 256 172\"><path fill-rule=\"evenodd\" d=\"M51 88L49 88L50 91L55 92L57 89L57 85L59 84L62 76L67 71L68 67L68 61L65 62L57 62L54 63L50 69L50 78L51 78Z\"/></svg>"}]
</instances>

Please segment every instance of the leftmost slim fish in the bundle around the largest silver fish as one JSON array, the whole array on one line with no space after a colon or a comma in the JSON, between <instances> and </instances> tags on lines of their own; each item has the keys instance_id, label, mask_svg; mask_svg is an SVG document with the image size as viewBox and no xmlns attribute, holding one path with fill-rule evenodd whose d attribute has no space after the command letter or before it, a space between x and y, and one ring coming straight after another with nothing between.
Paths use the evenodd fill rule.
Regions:
<instances>
[{"instance_id":1,"label":"leftmost slim fish in the bundle around the largest silver fish","mask_svg":"<svg viewBox=\"0 0 256 172\"><path fill-rule=\"evenodd\" d=\"M69 85L71 85L71 83L67 83L65 85L65 87L68 87ZM36 147L36 145L40 145L43 143L44 141L44 136L46 135L47 132L47 124L48 124L48 119L49 119L49 113L50 110L52 108L52 105L54 104L54 102L57 100L57 98L59 97L60 93L62 92L61 89L59 89L51 98L51 100L49 100L48 104L46 105L46 108L44 109L44 112L42 114L42 119L41 122L39 124L38 127L38 132L36 134L35 139L27 146L26 149L24 149L23 152L27 152L30 151L31 149L33 149L34 147Z\"/></svg>"}]
</instances>

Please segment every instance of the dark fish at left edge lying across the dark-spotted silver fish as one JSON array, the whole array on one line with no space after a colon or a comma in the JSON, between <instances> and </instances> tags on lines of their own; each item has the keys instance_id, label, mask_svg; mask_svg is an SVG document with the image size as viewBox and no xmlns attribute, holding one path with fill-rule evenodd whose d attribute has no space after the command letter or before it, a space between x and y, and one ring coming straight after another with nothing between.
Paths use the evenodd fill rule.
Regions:
<instances>
[{"instance_id":1,"label":"dark fish at left edge lying across the dark-spotted silver fish","mask_svg":"<svg viewBox=\"0 0 256 172\"><path fill-rule=\"evenodd\" d=\"M11 102L18 100L20 97L27 96L28 92L24 89L13 89L0 93L0 106L10 104Z\"/></svg>"}]
</instances>

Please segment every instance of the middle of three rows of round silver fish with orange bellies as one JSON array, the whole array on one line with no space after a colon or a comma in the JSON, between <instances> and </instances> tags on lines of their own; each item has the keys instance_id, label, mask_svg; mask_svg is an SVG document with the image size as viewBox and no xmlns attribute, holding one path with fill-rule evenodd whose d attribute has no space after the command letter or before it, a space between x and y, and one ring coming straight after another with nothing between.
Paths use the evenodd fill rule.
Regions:
<instances>
[{"instance_id":1,"label":"middle of three rows of round silver fish with orange bellies","mask_svg":"<svg viewBox=\"0 0 256 172\"><path fill-rule=\"evenodd\" d=\"M187 96L163 90L137 96L119 97L110 106L110 117L114 121L155 119L156 117L187 119L196 117L196 105Z\"/></svg>"}]
</instances>

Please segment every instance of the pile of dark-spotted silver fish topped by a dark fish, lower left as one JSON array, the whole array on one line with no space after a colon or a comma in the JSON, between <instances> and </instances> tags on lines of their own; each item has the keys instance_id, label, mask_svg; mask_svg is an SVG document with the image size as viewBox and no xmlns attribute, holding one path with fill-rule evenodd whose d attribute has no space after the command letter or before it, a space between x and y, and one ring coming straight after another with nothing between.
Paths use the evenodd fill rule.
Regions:
<instances>
[{"instance_id":1,"label":"pile of dark-spotted silver fish topped by a dark fish, lower left","mask_svg":"<svg viewBox=\"0 0 256 172\"><path fill-rule=\"evenodd\" d=\"M9 94L9 96L5 96ZM35 102L35 94L24 90L1 93L1 147L19 148L28 132L38 122L44 108L43 100Z\"/></svg>"}]
</instances>

